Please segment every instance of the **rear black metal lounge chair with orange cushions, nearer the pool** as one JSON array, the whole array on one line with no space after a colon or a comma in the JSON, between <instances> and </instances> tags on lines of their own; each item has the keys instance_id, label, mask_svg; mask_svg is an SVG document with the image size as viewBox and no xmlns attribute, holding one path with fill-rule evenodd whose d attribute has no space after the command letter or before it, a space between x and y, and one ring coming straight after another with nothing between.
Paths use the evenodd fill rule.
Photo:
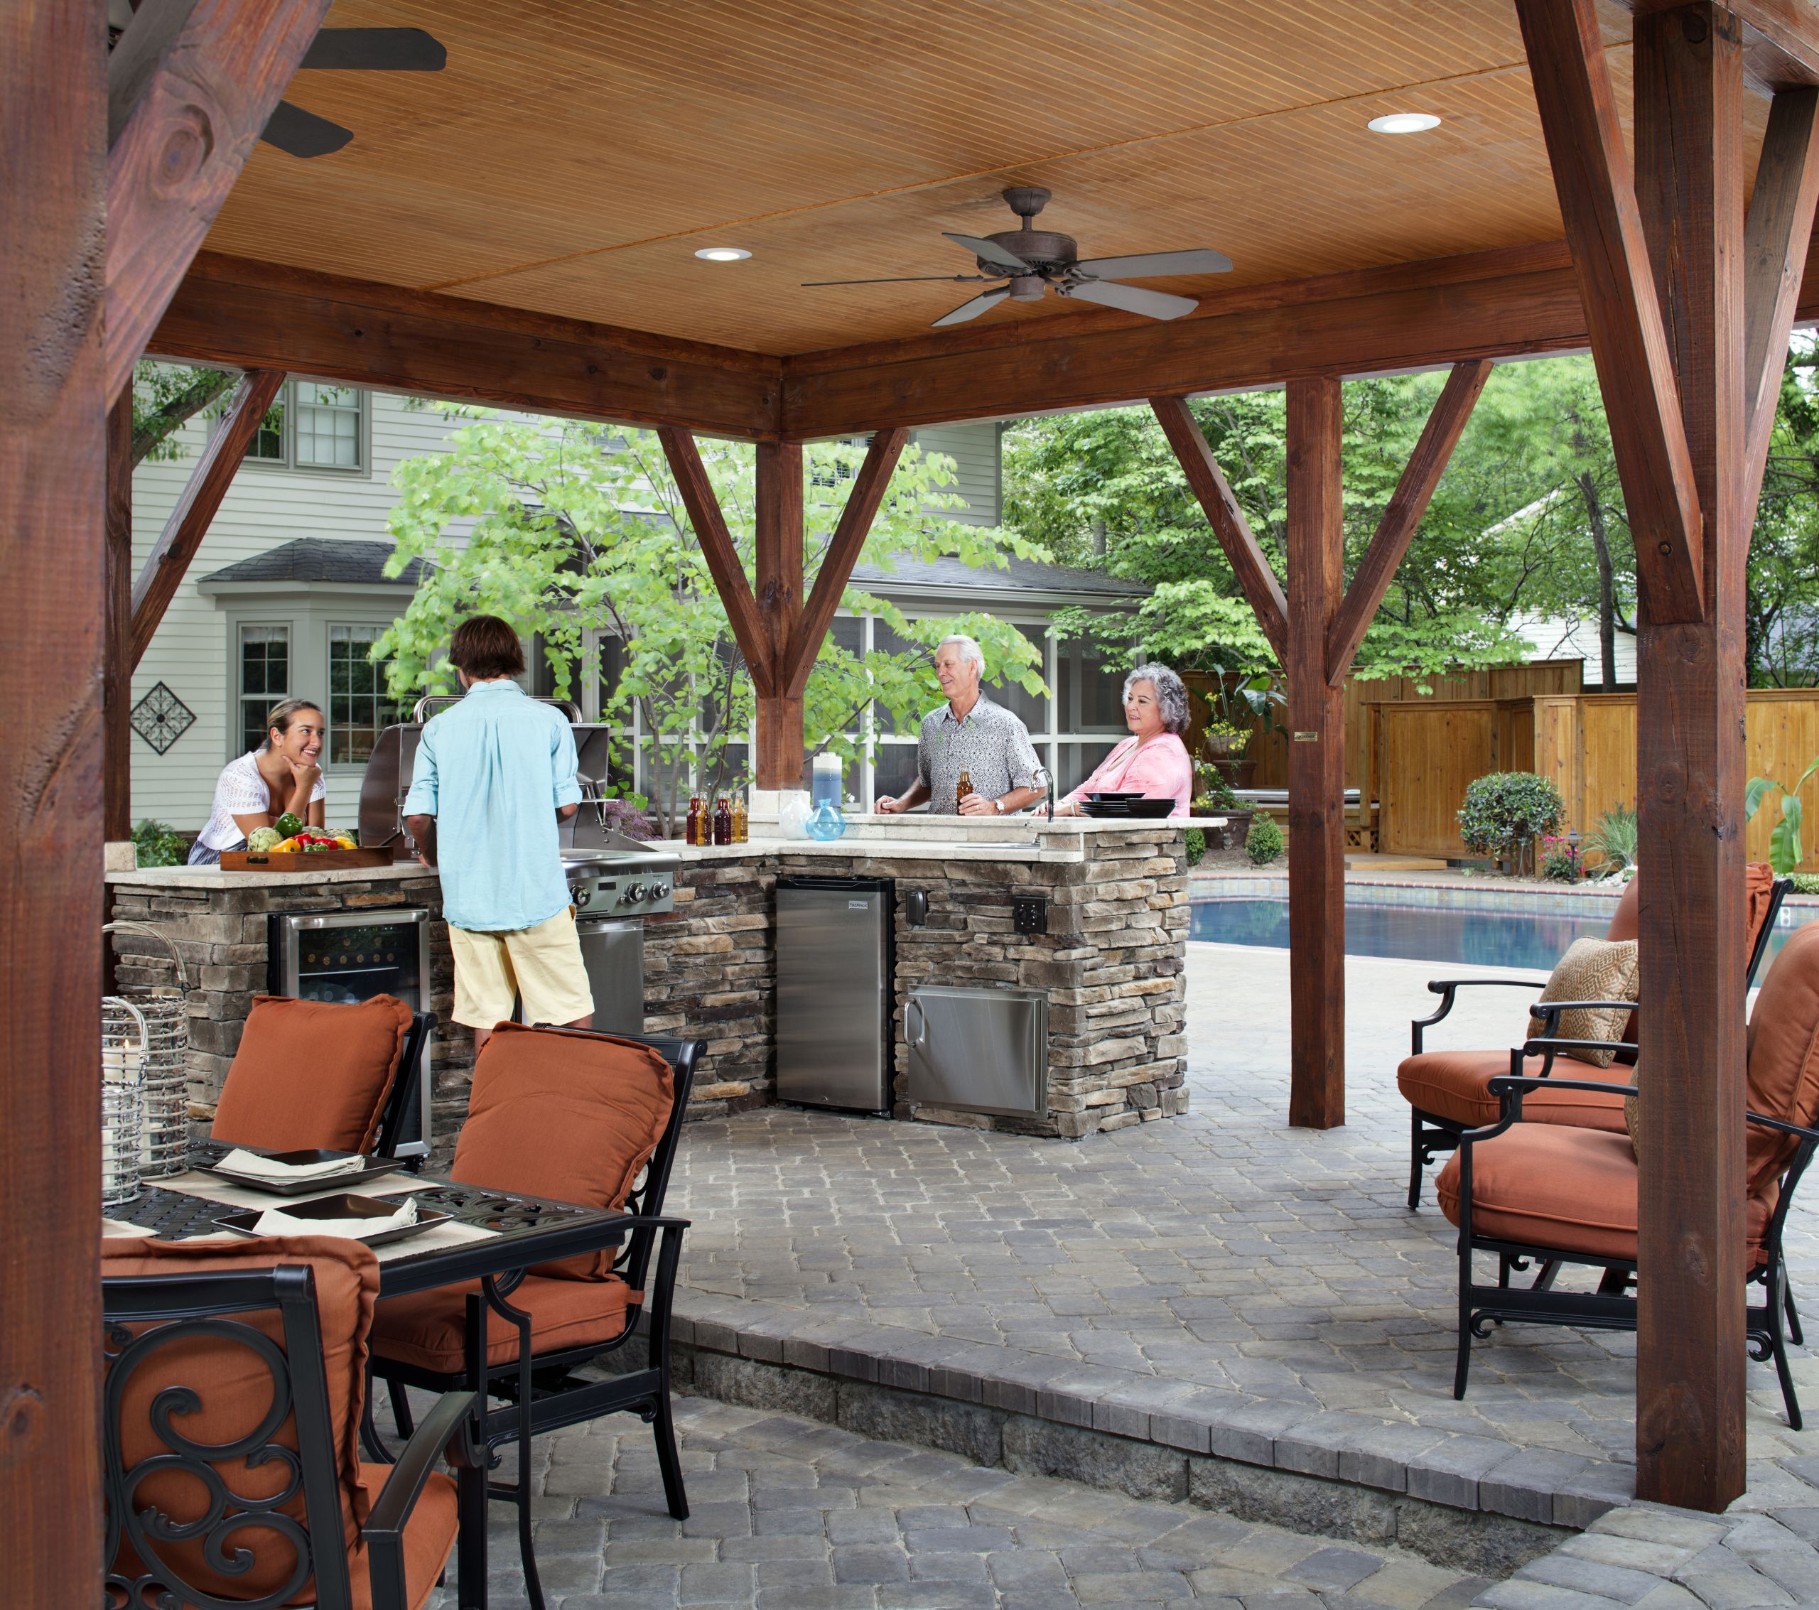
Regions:
<instances>
[{"instance_id":1,"label":"rear black metal lounge chair with orange cushions, nearer the pool","mask_svg":"<svg viewBox=\"0 0 1819 1610\"><path fill-rule=\"evenodd\" d=\"M1750 862L1744 868L1748 886L1748 961L1744 988L1755 979L1755 970L1768 953L1768 941L1775 926L1775 913L1794 888L1788 879L1775 879L1774 870L1763 862ZM1630 880L1612 913L1610 928L1604 930L1608 941L1635 939L1639 890L1635 879ZM1541 991L1546 979L1432 979L1428 990L1441 997L1439 1011L1432 1017L1417 1017L1408 1026L1410 1055L1395 1070L1395 1084L1408 1102L1408 1206L1413 1210L1421 1202L1421 1170L1433 1161L1439 1152L1452 1152L1459 1144L1459 1135L1466 1130L1497 1122L1497 1097L1490 1092L1492 1079L1504 1079L1517 1072L1510 1064L1510 1048L1501 1046L1488 1052L1430 1052L1424 1048L1424 1033L1453 1010L1453 1001L1461 990L1475 988L1512 988ZM1552 1039L1553 1028L1563 1011L1579 1006L1610 1006L1626 1002L1604 1001L1550 1001L1537 1006L1543 1019L1543 1033L1532 1039L1535 1046L1521 1073L1528 1079L1546 1079L1553 1072L1555 1057L1563 1046ZM1635 1010L1632 1008L1623 1031L1624 1044L1617 1050L1619 1062L1635 1062ZM1603 1090L1581 1090L1579 1081L1555 1081L1543 1092L1530 1095L1523 1106L1523 1117L1530 1122L1570 1124L1573 1128L1608 1130L1624 1133L1623 1097L1612 1097Z\"/></svg>"}]
</instances>

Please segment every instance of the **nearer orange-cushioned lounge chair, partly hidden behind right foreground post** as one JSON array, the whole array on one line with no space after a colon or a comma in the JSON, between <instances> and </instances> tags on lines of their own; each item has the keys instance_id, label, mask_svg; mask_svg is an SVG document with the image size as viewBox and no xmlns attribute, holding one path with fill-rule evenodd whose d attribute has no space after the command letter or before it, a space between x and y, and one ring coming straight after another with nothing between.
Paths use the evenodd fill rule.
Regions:
<instances>
[{"instance_id":1,"label":"nearer orange-cushioned lounge chair, partly hidden behind right foreground post","mask_svg":"<svg viewBox=\"0 0 1819 1610\"><path fill-rule=\"evenodd\" d=\"M1653 1079L1672 1077L1657 1070ZM1652 1079L1652 1082L1653 1082ZM1555 1081L1557 1082L1557 1081ZM1623 1101L1633 1086L1573 1081ZM1492 1321L1635 1330L1637 1161L1628 1133L1528 1122L1526 1102L1546 1081L1492 1081L1495 1124L1468 1130L1439 1177L1446 1217L1459 1226L1459 1361L1453 1397L1464 1397L1472 1337ZM1644 1093L1643 1101L1648 1095ZM1801 1404L1786 1343L1801 1341L1781 1237L1794 1192L1819 1148L1819 922L1794 930L1750 1015L1746 1268L1761 1303L1744 1303L1750 1355L1774 1359L1788 1424ZM1473 1253L1497 1257L1497 1284L1473 1281ZM1533 1286L1510 1273L1539 1264ZM1597 1292L1555 1292L1561 1264L1603 1268ZM1786 1330L1783 1330L1786 1321Z\"/></svg>"}]
</instances>

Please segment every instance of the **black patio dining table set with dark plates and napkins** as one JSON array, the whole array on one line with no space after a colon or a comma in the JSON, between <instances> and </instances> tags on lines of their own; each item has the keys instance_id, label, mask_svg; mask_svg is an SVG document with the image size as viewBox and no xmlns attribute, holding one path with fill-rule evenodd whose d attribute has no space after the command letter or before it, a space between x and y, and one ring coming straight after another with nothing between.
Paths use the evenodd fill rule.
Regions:
<instances>
[{"instance_id":1,"label":"black patio dining table set with dark plates and napkins","mask_svg":"<svg viewBox=\"0 0 1819 1610\"><path fill-rule=\"evenodd\" d=\"M378 1179L362 1179L355 1186L329 1181L320 1192L287 1197L227 1184L211 1173L191 1170L147 1188L126 1206L109 1208L102 1230L106 1235L149 1233L160 1241L227 1237L233 1232L222 1230L215 1223L227 1210L289 1208L340 1195L346 1190L364 1197L409 1192L422 1208L447 1213L446 1224L435 1224L406 1241L373 1248L378 1257L378 1295L382 1301L435 1286L478 1281L487 1275L511 1275L533 1264L618 1246L629 1223L629 1215L615 1208L584 1208L575 1202L557 1202L522 1192L495 1192L402 1170ZM473 1363L469 1359L469 1368ZM486 1403L482 1397L478 1419L484 1421L484 1417ZM520 1470L528 1468L529 1455L529 1446L520 1441ZM484 1466L458 1468L455 1483L460 1506L458 1605L460 1610L486 1610L487 1470Z\"/></svg>"}]
</instances>

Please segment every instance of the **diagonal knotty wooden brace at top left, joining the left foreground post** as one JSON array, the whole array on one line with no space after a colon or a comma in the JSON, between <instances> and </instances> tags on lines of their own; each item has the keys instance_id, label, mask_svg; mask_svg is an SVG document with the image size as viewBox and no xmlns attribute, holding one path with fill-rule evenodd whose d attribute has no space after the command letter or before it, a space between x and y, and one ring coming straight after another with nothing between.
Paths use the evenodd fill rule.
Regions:
<instances>
[{"instance_id":1,"label":"diagonal knotty wooden brace at top left, joining the left foreground post","mask_svg":"<svg viewBox=\"0 0 1819 1610\"><path fill-rule=\"evenodd\" d=\"M140 0L107 60L107 397L118 397L329 0Z\"/></svg>"}]
</instances>

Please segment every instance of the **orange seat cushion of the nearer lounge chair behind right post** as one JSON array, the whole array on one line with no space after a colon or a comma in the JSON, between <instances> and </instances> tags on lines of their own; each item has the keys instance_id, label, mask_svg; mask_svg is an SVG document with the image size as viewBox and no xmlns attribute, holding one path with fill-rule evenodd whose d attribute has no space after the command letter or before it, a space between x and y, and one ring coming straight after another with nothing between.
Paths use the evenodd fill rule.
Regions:
<instances>
[{"instance_id":1,"label":"orange seat cushion of the nearer lounge chair behind right post","mask_svg":"<svg viewBox=\"0 0 1819 1610\"><path fill-rule=\"evenodd\" d=\"M1617 1110L1619 1128L1623 1108ZM1441 1208L1459 1223L1459 1153L1437 1181ZM1624 1133L1515 1124L1472 1148L1472 1233L1592 1257L1635 1261L1635 1152ZM1774 1210L1774 1188L1750 1199L1752 1266Z\"/></svg>"}]
</instances>

